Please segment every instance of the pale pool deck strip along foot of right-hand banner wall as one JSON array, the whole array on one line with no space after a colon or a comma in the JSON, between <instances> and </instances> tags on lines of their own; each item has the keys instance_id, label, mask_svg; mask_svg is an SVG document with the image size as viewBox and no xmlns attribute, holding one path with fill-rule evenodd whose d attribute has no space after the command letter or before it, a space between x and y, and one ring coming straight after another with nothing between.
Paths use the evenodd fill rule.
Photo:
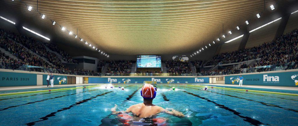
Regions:
<instances>
[{"instance_id":1,"label":"pale pool deck strip along foot of right-hand banner wall","mask_svg":"<svg viewBox=\"0 0 298 126\"><path fill-rule=\"evenodd\" d=\"M239 87L237 84L201 84L201 85L213 85L213 86L225 86L225 87ZM283 86L260 86L260 85L242 85L247 88L263 88L263 89L277 89L277 90L295 90L298 91L298 87L283 87Z\"/></svg>"}]
</instances>

